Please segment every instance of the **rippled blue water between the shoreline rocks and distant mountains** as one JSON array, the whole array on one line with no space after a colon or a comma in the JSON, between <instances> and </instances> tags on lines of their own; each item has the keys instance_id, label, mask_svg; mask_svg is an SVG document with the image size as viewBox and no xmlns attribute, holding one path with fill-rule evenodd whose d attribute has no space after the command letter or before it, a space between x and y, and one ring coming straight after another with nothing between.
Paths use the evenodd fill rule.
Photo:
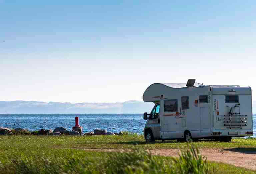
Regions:
<instances>
[{"instance_id":1,"label":"rippled blue water between the shoreline rocks and distant mountains","mask_svg":"<svg viewBox=\"0 0 256 174\"><path fill-rule=\"evenodd\" d=\"M145 124L143 114L0 114L0 127L28 130L65 127L72 130L76 116L80 126L83 126L83 133L98 128L113 133L126 130L142 134ZM253 116L253 130L256 137L256 114Z\"/></svg>"}]
</instances>

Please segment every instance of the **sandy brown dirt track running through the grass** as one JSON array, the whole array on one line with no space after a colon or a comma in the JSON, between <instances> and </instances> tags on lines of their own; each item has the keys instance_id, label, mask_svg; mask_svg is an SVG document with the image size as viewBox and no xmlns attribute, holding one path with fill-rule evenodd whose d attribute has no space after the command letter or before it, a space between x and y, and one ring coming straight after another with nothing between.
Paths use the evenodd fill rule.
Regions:
<instances>
[{"instance_id":1,"label":"sandy brown dirt track running through the grass","mask_svg":"<svg viewBox=\"0 0 256 174\"><path fill-rule=\"evenodd\" d=\"M74 148L78 149L78 148ZM89 151L99 151L99 152L120 152L121 149L84 149ZM152 154L162 155L162 156L178 156L179 149L154 149L149 150ZM243 149L228 149L228 150L218 150L218 149L200 149L203 156L207 157L209 161L224 162L232 164L238 167L245 167L248 169L256 170L256 152L248 152Z\"/></svg>"}]
</instances>

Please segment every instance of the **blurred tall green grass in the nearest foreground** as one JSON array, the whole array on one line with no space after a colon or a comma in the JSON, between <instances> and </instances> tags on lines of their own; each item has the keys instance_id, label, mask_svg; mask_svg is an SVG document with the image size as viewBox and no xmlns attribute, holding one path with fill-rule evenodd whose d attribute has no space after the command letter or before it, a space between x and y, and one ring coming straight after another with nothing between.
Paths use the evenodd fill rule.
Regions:
<instances>
[{"instance_id":1,"label":"blurred tall green grass in the nearest foreground","mask_svg":"<svg viewBox=\"0 0 256 174\"><path fill-rule=\"evenodd\" d=\"M82 151L73 153L29 157L16 153L5 164L0 163L0 170L7 174L208 174L213 171L194 145L183 150L180 158L159 157L137 147L129 152L98 153L90 157Z\"/></svg>"}]
</instances>

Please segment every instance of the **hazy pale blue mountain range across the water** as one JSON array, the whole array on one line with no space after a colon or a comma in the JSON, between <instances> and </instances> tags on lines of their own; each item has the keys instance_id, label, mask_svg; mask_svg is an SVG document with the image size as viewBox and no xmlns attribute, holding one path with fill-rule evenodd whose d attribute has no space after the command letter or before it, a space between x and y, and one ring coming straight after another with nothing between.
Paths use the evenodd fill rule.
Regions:
<instances>
[{"instance_id":1,"label":"hazy pale blue mountain range across the water","mask_svg":"<svg viewBox=\"0 0 256 174\"><path fill-rule=\"evenodd\" d=\"M154 104L143 101L123 103L60 103L37 101L0 101L0 114L101 114L101 113L139 113L150 112ZM256 114L256 101L253 101Z\"/></svg>"}]
</instances>

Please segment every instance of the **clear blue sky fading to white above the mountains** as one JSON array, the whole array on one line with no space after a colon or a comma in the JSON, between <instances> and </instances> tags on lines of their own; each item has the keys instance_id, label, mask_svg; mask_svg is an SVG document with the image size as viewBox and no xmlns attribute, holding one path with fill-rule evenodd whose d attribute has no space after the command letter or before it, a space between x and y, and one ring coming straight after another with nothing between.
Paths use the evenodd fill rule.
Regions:
<instances>
[{"instance_id":1,"label":"clear blue sky fading to white above the mountains","mask_svg":"<svg viewBox=\"0 0 256 174\"><path fill-rule=\"evenodd\" d=\"M142 100L188 78L256 89L255 1L0 0L0 16L2 101Z\"/></svg>"}]
</instances>

